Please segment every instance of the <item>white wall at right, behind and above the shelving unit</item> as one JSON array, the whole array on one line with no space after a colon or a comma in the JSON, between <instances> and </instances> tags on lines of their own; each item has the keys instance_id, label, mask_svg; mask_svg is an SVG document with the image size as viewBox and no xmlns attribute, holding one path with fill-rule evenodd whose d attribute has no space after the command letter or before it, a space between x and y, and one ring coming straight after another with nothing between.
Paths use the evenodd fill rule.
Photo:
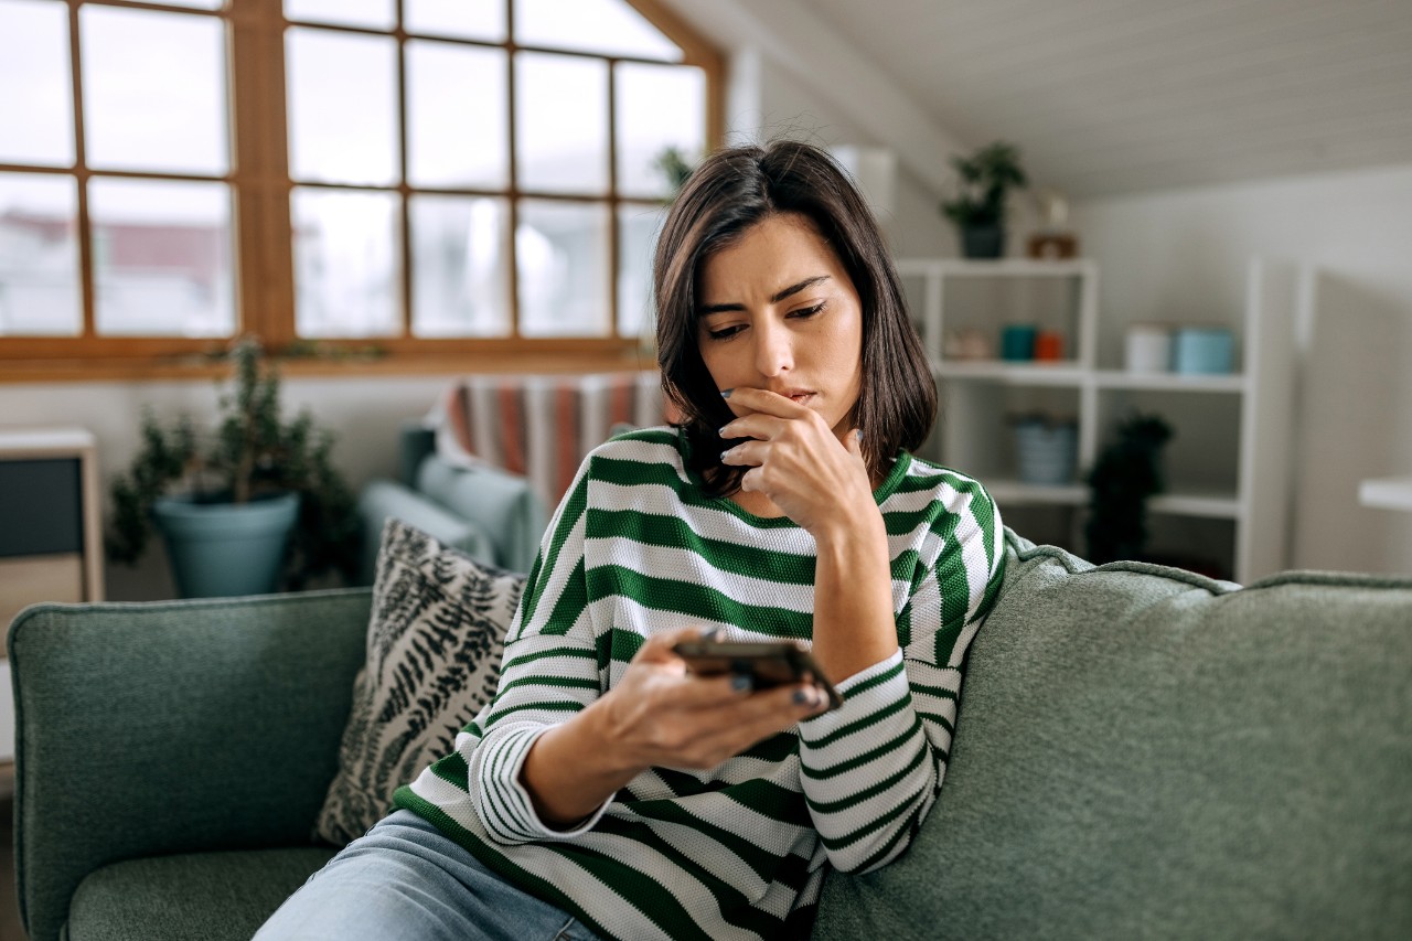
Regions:
<instances>
[{"instance_id":1,"label":"white wall at right, behind and above the shelving unit","mask_svg":"<svg viewBox=\"0 0 1412 941\"><path fill-rule=\"evenodd\" d=\"M1289 565L1412 574L1412 514L1357 503L1358 480L1412 473L1412 165L1094 199L1073 220L1115 322L1236 324L1251 256L1317 266L1293 325Z\"/></svg>"}]
</instances>

